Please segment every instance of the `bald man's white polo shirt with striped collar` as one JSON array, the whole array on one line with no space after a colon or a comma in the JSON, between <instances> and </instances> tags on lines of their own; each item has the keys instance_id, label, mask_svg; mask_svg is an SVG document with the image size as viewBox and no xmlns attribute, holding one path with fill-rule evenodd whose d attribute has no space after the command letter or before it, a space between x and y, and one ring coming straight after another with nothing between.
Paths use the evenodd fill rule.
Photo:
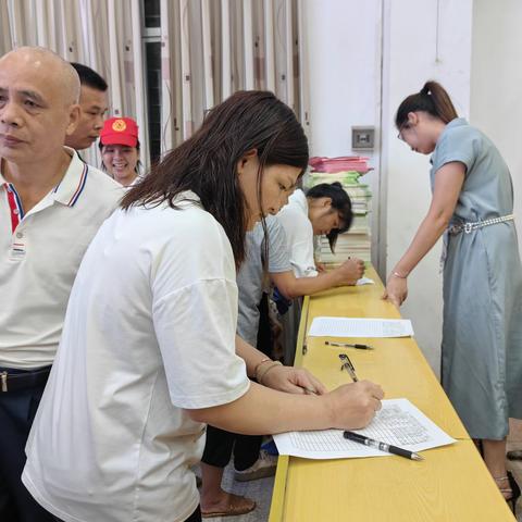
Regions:
<instances>
[{"instance_id":1,"label":"bald man's white polo shirt with striped collar","mask_svg":"<svg viewBox=\"0 0 522 522\"><path fill-rule=\"evenodd\" d=\"M123 195L65 149L72 160L63 179L26 214L0 171L0 366L52 364L84 252Z\"/></svg>"}]
</instances>

